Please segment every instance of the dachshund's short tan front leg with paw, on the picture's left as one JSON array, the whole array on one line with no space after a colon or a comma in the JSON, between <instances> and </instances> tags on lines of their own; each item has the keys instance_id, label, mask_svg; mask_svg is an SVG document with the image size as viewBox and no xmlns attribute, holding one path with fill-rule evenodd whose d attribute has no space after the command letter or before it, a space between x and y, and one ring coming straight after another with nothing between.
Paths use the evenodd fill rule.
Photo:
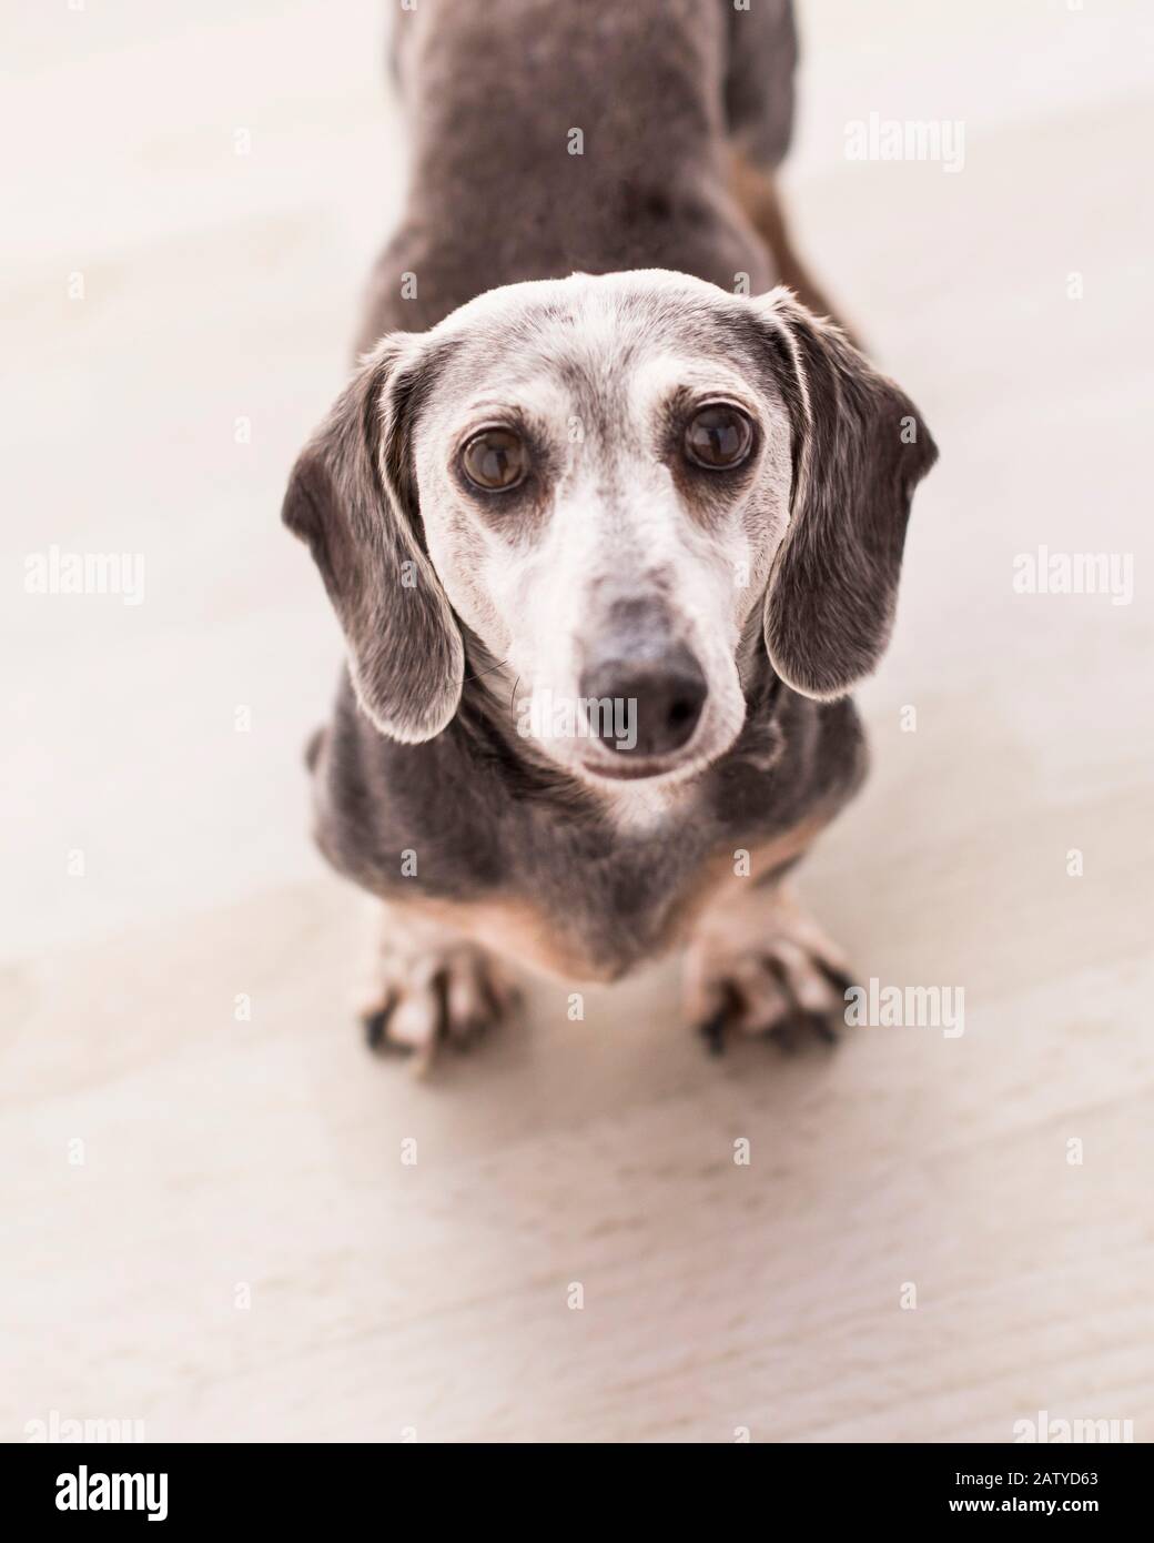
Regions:
<instances>
[{"instance_id":1,"label":"dachshund's short tan front leg with paw, on the picture's left","mask_svg":"<svg viewBox=\"0 0 1154 1543\"><path fill-rule=\"evenodd\" d=\"M455 927L404 903L383 910L361 1021L372 1049L412 1055L424 1071L440 1046L467 1049L506 1017L517 988Z\"/></svg>"}]
</instances>

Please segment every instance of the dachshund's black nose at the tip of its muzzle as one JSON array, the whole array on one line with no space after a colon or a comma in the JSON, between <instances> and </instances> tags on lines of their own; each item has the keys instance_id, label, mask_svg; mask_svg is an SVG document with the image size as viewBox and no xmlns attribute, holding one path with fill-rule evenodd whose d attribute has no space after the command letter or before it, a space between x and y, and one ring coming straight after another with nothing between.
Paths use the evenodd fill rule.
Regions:
<instances>
[{"instance_id":1,"label":"dachshund's black nose at the tip of its muzzle","mask_svg":"<svg viewBox=\"0 0 1154 1543\"><path fill-rule=\"evenodd\" d=\"M666 756L688 744L708 687L697 660L679 643L656 659L605 659L580 679L591 731L611 750Z\"/></svg>"}]
</instances>

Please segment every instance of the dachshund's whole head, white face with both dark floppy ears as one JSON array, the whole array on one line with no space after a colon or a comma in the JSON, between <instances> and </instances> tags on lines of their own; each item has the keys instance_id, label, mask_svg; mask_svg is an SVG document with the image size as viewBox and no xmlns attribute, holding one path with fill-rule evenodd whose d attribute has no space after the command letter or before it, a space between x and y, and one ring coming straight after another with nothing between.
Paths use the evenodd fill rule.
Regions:
<instances>
[{"instance_id":1,"label":"dachshund's whole head, white face with both dark floppy ears","mask_svg":"<svg viewBox=\"0 0 1154 1543\"><path fill-rule=\"evenodd\" d=\"M788 292L579 275L386 338L285 518L383 733L452 719L464 623L554 761L677 778L736 739L751 630L812 696L873 667L933 454L901 392Z\"/></svg>"}]
</instances>

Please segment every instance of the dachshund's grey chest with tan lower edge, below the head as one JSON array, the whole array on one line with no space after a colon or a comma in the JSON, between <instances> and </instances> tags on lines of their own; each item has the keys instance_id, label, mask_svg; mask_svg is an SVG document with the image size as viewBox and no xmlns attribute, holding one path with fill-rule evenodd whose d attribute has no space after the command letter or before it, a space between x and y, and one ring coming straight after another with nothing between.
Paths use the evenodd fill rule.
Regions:
<instances>
[{"instance_id":1,"label":"dachshund's grey chest with tan lower edge, below the head","mask_svg":"<svg viewBox=\"0 0 1154 1543\"><path fill-rule=\"evenodd\" d=\"M606 813L518 795L450 736L395 745L346 701L316 758L318 841L364 889L512 960L616 980L795 861L859 781L852 707L796 702L778 762L734 751L654 818L643 799Z\"/></svg>"}]
</instances>

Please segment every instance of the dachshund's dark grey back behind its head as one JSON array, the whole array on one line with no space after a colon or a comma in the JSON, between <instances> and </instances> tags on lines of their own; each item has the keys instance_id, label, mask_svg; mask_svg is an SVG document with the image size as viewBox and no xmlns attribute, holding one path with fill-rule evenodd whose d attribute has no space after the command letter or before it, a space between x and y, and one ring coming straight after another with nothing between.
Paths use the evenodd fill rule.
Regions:
<instances>
[{"instance_id":1,"label":"dachshund's dark grey back behind its head","mask_svg":"<svg viewBox=\"0 0 1154 1543\"><path fill-rule=\"evenodd\" d=\"M733 198L731 154L771 168L785 153L795 59L788 0L400 11L410 193L361 346L481 290L572 272L665 267L765 289L776 275Z\"/></svg>"}]
</instances>

